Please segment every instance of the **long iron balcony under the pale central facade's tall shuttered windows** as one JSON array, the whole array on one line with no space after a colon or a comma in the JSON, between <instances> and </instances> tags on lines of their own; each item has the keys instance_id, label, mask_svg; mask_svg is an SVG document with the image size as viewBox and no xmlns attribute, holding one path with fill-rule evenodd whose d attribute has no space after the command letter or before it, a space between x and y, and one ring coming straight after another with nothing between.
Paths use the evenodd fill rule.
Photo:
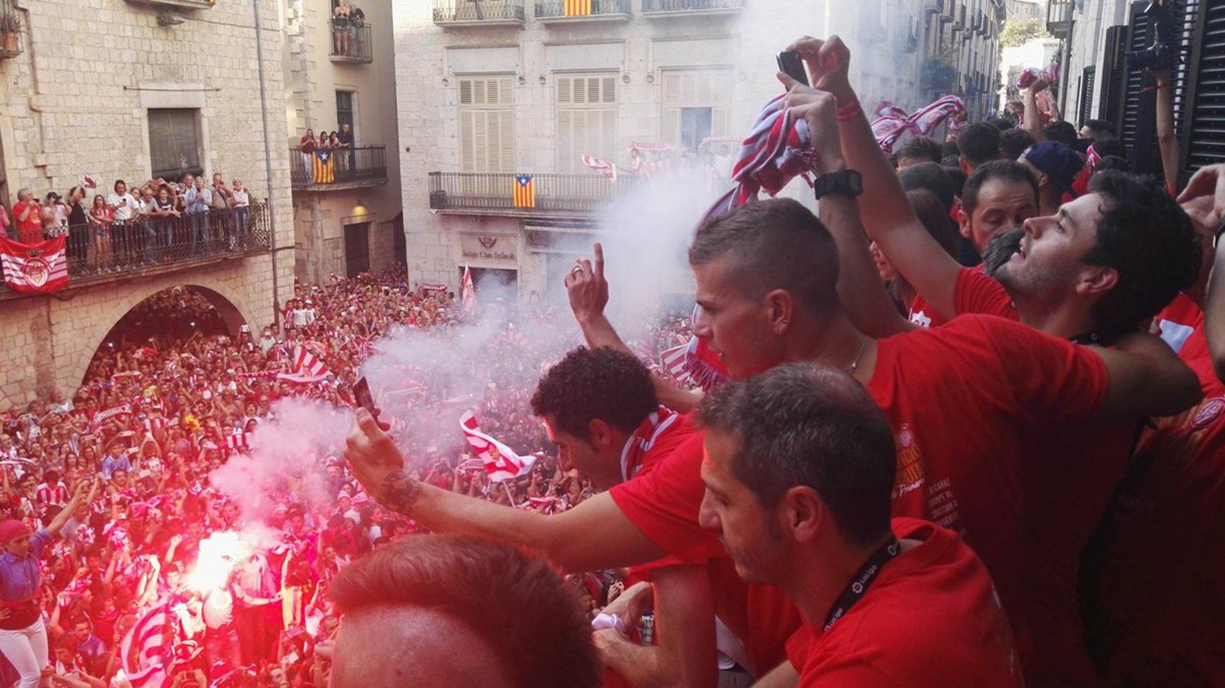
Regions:
<instances>
[{"instance_id":1,"label":"long iron balcony under the pale central facade's tall shuttered windows","mask_svg":"<svg viewBox=\"0 0 1225 688\"><path fill-rule=\"evenodd\" d=\"M430 173L430 208L440 213L523 218L589 218L633 189L636 178L612 184L601 175L532 175L530 202L516 207L516 176L496 173ZM524 207L527 206L527 207Z\"/></svg>"}]
</instances>

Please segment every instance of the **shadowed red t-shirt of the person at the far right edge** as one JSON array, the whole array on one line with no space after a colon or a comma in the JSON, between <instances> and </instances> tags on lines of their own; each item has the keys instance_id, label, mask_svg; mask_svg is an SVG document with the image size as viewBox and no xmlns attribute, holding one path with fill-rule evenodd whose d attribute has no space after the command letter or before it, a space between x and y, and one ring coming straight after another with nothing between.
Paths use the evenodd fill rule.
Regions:
<instances>
[{"instance_id":1,"label":"shadowed red t-shirt of the person at the far right edge","mask_svg":"<svg viewBox=\"0 0 1225 688\"><path fill-rule=\"evenodd\" d=\"M1085 557L1089 646L1111 686L1225 686L1225 384L1203 324L1204 399L1147 430Z\"/></svg>"}]
</instances>

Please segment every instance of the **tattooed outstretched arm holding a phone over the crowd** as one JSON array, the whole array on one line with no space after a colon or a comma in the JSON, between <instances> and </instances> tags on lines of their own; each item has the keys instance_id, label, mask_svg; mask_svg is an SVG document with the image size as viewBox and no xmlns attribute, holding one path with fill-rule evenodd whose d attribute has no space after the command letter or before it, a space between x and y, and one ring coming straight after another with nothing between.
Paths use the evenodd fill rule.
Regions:
<instances>
[{"instance_id":1,"label":"tattooed outstretched arm holding a phone over the crowd","mask_svg":"<svg viewBox=\"0 0 1225 688\"><path fill-rule=\"evenodd\" d=\"M516 542L572 572L647 563L665 555L608 492L545 517L440 490L404 473L404 457L365 409L356 410L347 444L344 455L366 492L431 531Z\"/></svg>"}]
</instances>

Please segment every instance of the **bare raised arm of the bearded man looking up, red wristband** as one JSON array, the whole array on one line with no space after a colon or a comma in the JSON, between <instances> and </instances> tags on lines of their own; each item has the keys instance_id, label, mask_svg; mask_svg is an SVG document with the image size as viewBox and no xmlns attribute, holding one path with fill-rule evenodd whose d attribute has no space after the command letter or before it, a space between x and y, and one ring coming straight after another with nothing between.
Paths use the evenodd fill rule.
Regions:
<instances>
[{"instance_id":1,"label":"bare raised arm of the bearded man looking up, red wristband","mask_svg":"<svg viewBox=\"0 0 1225 688\"><path fill-rule=\"evenodd\" d=\"M864 175L864 196L859 202L859 212L867 236L876 241L889 263L940 315L952 318L957 315L954 296L960 266L924 229L898 175L877 146L872 127L846 76L850 50L837 36L828 40L802 38L789 49L804 55L816 80L816 88L838 99L838 130L846 164ZM842 291L839 284L839 294ZM877 313L878 308L880 306L873 307L872 312ZM884 316L877 313L875 317ZM888 322L894 321L891 317ZM898 332L898 327L886 324L872 331L892 333Z\"/></svg>"}]
</instances>

